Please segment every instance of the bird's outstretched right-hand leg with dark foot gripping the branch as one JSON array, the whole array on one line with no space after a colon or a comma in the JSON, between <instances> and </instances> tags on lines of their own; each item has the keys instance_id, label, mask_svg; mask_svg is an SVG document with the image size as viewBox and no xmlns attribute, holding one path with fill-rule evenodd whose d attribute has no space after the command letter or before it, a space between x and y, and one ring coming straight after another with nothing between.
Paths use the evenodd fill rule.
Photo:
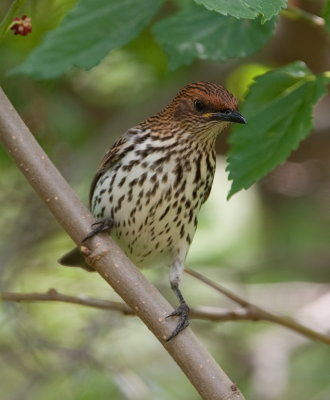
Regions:
<instances>
[{"instance_id":1,"label":"bird's outstretched right-hand leg with dark foot gripping the branch","mask_svg":"<svg viewBox=\"0 0 330 400\"><path fill-rule=\"evenodd\" d=\"M179 283L181 281L183 269L184 269L183 260L182 262L177 260L171 267L171 275L170 275L171 288L175 293L176 297L178 298L180 304L171 314L166 316L166 318L179 317L177 326L175 327L171 335L166 339L167 342L173 339L176 335L178 335L189 325L190 310L188 304L185 302L185 299L183 298L182 293L179 289Z\"/></svg>"}]
</instances>

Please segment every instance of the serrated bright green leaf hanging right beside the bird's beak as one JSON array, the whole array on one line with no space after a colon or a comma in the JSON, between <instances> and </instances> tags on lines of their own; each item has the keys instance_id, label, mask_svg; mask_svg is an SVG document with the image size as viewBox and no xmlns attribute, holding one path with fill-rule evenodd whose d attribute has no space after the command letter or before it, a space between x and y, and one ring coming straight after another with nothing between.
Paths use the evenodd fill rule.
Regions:
<instances>
[{"instance_id":1,"label":"serrated bright green leaf hanging right beside the bird's beak","mask_svg":"<svg viewBox=\"0 0 330 400\"><path fill-rule=\"evenodd\" d=\"M247 189L282 163L312 129L314 104L327 92L330 77L315 76L303 62L257 77L241 110L247 125L229 138L228 197Z\"/></svg>"}]
</instances>

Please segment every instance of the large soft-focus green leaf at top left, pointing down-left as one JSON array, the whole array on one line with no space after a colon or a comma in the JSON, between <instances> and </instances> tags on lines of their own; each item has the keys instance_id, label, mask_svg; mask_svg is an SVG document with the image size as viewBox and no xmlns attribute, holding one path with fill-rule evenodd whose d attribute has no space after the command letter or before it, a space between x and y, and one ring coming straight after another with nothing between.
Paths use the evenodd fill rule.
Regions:
<instances>
[{"instance_id":1,"label":"large soft-focus green leaf at top left, pointing down-left","mask_svg":"<svg viewBox=\"0 0 330 400\"><path fill-rule=\"evenodd\" d=\"M12 73L50 79L72 66L89 69L135 38L164 0L81 0Z\"/></svg>"}]
</instances>

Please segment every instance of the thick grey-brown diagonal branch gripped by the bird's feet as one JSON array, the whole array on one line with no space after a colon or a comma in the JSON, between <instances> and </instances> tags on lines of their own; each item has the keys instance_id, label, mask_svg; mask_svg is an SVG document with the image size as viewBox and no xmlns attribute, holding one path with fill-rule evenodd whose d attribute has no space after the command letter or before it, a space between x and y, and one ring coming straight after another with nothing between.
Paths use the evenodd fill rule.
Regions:
<instances>
[{"instance_id":1,"label":"thick grey-brown diagonal branch gripped by the bird's feet","mask_svg":"<svg viewBox=\"0 0 330 400\"><path fill-rule=\"evenodd\" d=\"M94 218L39 146L0 89L0 140L57 221L78 245ZM239 400L243 395L187 328L170 342L173 308L107 234L87 242L88 263L105 279L178 363L203 399Z\"/></svg>"}]
</instances>

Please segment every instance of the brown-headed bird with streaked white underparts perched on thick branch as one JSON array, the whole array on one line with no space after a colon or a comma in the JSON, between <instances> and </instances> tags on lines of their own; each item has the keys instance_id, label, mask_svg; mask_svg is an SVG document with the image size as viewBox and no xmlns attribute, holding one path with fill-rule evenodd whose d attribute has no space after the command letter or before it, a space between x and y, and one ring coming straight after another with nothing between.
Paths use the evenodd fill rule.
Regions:
<instances>
[{"instance_id":1,"label":"brown-headed bird with streaked white underparts perched on thick branch","mask_svg":"<svg viewBox=\"0 0 330 400\"><path fill-rule=\"evenodd\" d=\"M96 222L83 242L108 231L137 267L170 267L179 305L167 316L178 317L167 341L189 325L189 306L180 290L184 262L211 191L216 138L231 123L246 120L230 92L217 83L190 83L114 143L91 184ZM59 262L92 270L78 248Z\"/></svg>"}]
</instances>

